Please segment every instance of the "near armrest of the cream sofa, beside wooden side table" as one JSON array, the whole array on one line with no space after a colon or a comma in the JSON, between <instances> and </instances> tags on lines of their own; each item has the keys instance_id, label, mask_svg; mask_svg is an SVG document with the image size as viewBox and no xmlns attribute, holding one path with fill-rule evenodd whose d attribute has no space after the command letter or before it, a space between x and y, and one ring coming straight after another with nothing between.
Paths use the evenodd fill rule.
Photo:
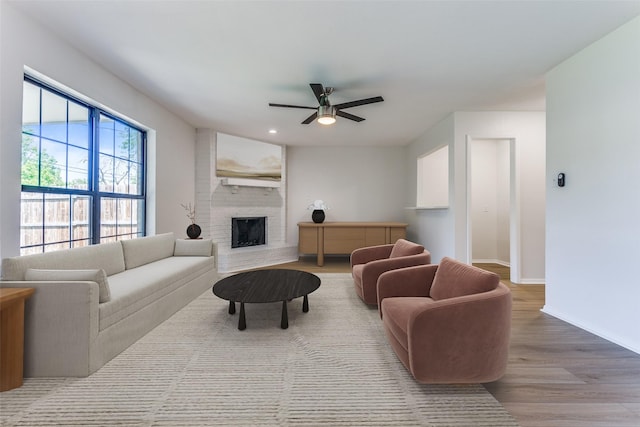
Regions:
<instances>
[{"instance_id":1,"label":"near armrest of the cream sofa, beside wooden side table","mask_svg":"<svg viewBox=\"0 0 640 427\"><path fill-rule=\"evenodd\" d=\"M35 289L25 304L25 376L89 374L99 330L96 282L2 281L0 287Z\"/></svg>"}]
</instances>

